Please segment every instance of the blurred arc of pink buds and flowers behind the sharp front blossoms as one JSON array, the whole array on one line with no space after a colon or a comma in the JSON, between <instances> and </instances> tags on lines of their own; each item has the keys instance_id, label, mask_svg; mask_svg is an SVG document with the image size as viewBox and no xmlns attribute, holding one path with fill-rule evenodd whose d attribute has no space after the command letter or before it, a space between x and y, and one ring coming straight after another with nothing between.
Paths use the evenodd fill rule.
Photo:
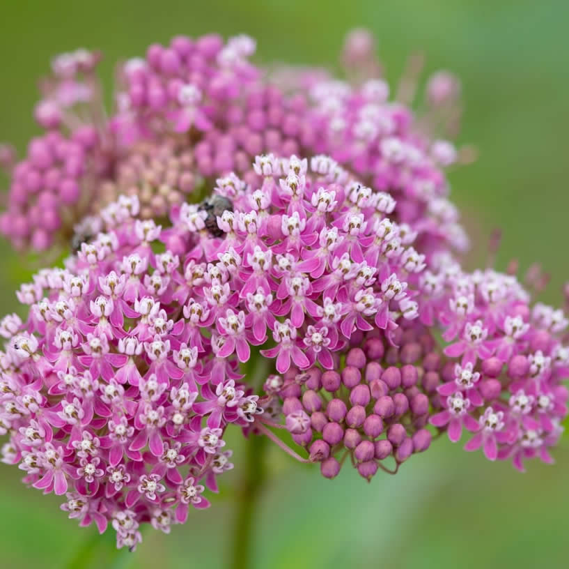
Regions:
<instances>
[{"instance_id":1,"label":"blurred arc of pink buds and flowers behind the sharp front blossoms","mask_svg":"<svg viewBox=\"0 0 569 569\"><path fill-rule=\"evenodd\" d=\"M348 38L348 47L360 44L360 58L364 39ZM383 207L418 233L428 262L432 252L467 246L446 199L443 169L456 152L437 133L426 135L424 117L418 123L405 105L389 101L387 83L370 78L378 64L357 86L316 70L293 72L304 79L279 86L248 61L255 47L247 36L224 43L215 35L151 45L145 59L120 66L109 120L94 73L98 54L58 56L36 109L48 132L13 168L0 232L20 249L61 247L86 215L118 195L138 195L142 218L162 217L204 178L213 183L236 172L255 185L256 155L325 153L397 198L382 198ZM439 106L455 100L444 85L430 85Z\"/></svg>"}]
</instances>

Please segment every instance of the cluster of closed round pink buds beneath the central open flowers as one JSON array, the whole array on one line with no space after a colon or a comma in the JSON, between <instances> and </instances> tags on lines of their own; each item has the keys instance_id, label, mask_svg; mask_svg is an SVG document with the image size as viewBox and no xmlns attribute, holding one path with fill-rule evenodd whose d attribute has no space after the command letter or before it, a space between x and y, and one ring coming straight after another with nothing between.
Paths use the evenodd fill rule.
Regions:
<instances>
[{"instance_id":1,"label":"cluster of closed round pink buds beneath the central open flowers","mask_svg":"<svg viewBox=\"0 0 569 569\"><path fill-rule=\"evenodd\" d=\"M311 462L320 462L326 478L334 478L348 456L367 480L378 468L395 473L430 446L426 425L439 407L442 358L426 328L404 326L397 330L398 347L380 331L357 333L341 369L289 370L265 382L265 392L283 401L293 440L306 447Z\"/></svg>"}]
</instances>

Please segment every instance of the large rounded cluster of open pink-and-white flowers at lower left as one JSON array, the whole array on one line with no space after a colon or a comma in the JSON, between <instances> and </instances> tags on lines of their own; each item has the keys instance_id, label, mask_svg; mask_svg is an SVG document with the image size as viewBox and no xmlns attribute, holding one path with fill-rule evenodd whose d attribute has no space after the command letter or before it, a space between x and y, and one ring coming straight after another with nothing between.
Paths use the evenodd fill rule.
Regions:
<instances>
[{"instance_id":1,"label":"large rounded cluster of open pink-and-white flowers at lower left","mask_svg":"<svg viewBox=\"0 0 569 569\"><path fill-rule=\"evenodd\" d=\"M107 208L115 229L22 285L29 316L0 324L3 462L66 494L81 525L111 522L119 547L136 546L143 522L167 533L208 507L205 487L233 467L226 426L262 411L237 359L217 355L223 337L203 335L207 303L186 302L217 290L217 264L155 254L161 229L137 209L136 197Z\"/></svg>"}]
</instances>

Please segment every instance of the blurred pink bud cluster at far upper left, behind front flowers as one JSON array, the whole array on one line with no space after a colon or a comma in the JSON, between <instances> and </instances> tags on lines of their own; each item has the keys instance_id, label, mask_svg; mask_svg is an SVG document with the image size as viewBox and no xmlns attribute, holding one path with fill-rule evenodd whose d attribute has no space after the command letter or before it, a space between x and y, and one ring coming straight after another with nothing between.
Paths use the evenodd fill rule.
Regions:
<instances>
[{"instance_id":1,"label":"blurred pink bud cluster at far upper left, behind front flowers","mask_svg":"<svg viewBox=\"0 0 569 569\"><path fill-rule=\"evenodd\" d=\"M31 140L24 160L4 164L11 184L0 233L17 249L46 250L69 239L73 225L92 211L111 144L98 128L104 116L94 75L99 59L95 52L77 50L52 61L34 112L46 132Z\"/></svg>"}]
</instances>

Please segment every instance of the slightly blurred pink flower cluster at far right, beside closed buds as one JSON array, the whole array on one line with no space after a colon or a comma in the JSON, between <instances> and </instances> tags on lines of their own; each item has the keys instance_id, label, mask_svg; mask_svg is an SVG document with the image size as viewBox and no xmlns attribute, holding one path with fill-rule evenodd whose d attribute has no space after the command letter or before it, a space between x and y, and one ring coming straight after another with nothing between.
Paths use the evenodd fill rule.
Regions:
<instances>
[{"instance_id":1,"label":"slightly blurred pink flower cluster at far right, beside closed buds","mask_svg":"<svg viewBox=\"0 0 569 569\"><path fill-rule=\"evenodd\" d=\"M527 458L552 462L547 449L568 413L561 382L569 376L569 349L561 333L569 321L562 310L531 308L510 275L465 274L456 265L454 271L447 268L439 298L429 301L437 305L444 340L452 342L438 388L444 410L430 422L446 427L451 441L465 427L475 433L467 450L482 446L489 460L512 459L519 470Z\"/></svg>"}]
</instances>

